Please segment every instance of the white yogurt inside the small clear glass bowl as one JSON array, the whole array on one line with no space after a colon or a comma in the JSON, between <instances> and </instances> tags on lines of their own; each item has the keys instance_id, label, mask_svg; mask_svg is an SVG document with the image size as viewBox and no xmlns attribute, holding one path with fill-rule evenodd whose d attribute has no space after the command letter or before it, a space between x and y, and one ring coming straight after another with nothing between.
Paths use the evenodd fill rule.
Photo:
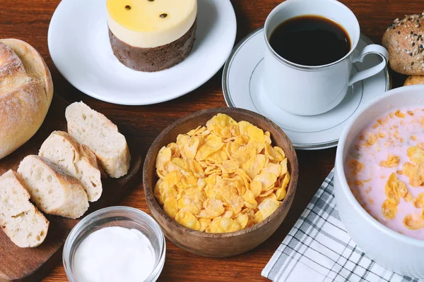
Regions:
<instances>
[{"instance_id":1,"label":"white yogurt inside the small clear glass bowl","mask_svg":"<svg viewBox=\"0 0 424 282\"><path fill-rule=\"evenodd\" d=\"M78 282L145 281L154 264L155 252L146 235L119 226L88 235L74 257Z\"/></svg>"}]
</instances>

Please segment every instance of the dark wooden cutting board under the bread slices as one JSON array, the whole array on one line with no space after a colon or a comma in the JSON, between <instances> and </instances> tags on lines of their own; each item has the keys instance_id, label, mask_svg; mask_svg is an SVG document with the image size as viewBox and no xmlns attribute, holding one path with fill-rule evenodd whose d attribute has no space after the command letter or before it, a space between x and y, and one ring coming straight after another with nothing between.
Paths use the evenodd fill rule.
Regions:
<instances>
[{"instance_id":1,"label":"dark wooden cutting board under the bread slices","mask_svg":"<svg viewBox=\"0 0 424 282\"><path fill-rule=\"evenodd\" d=\"M22 147L8 157L0 160L0 175L12 168L16 171L20 161L28 154L38 154L42 142L54 130L66 131L65 109L69 103L54 95L49 113L38 132ZM130 152L131 140L127 139ZM90 208L84 216L103 207L119 204L122 197L139 183L141 176L141 157L131 154L129 173L122 178L102 179L103 192L98 202L90 203ZM62 247L66 237L81 219L65 219L60 216L46 215L50 221L47 237L39 247L20 248L8 239L0 230L0 282L4 281L39 281L57 263L61 261Z\"/></svg>"}]
</instances>

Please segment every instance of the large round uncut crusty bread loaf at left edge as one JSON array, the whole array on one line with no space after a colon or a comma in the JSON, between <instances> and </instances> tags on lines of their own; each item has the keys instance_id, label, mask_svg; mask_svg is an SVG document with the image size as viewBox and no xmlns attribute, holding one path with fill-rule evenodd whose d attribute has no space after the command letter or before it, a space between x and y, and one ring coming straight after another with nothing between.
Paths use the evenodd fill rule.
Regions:
<instances>
[{"instance_id":1,"label":"large round uncut crusty bread loaf at left edge","mask_svg":"<svg viewBox=\"0 0 424 282\"><path fill-rule=\"evenodd\" d=\"M0 159L33 137L52 97L52 75L37 50L19 39L0 39Z\"/></svg>"}]
</instances>

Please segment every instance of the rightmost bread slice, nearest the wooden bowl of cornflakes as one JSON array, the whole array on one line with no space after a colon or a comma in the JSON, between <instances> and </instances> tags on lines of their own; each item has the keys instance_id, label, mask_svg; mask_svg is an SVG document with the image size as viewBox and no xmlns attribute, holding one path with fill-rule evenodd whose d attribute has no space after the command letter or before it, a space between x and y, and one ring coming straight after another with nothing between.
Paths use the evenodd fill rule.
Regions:
<instances>
[{"instance_id":1,"label":"rightmost bread slice, nearest the wooden bowl of cornflakes","mask_svg":"<svg viewBox=\"0 0 424 282\"><path fill-rule=\"evenodd\" d=\"M83 102L69 105L65 111L68 133L95 152L100 166L113 178L128 173L129 149L117 125Z\"/></svg>"}]
</instances>

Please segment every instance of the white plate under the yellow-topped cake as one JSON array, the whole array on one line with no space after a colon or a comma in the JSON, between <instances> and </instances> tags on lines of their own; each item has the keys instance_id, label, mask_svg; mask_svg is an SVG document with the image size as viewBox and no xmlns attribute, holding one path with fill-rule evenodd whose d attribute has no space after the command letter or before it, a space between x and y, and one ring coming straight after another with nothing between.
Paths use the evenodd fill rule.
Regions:
<instances>
[{"instance_id":1,"label":"white plate under the yellow-topped cake","mask_svg":"<svg viewBox=\"0 0 424 282\"><path fill-rule=\"evenodd\" d=\"M91 97L124 105L165 102L195 90L225 63L237 29L230 0L201 0L196 41L182 63L143 73L126 68L112 53L105 0L62 0L52 16L50 56L71 85Z\"/></svg>"}]
</instances>

